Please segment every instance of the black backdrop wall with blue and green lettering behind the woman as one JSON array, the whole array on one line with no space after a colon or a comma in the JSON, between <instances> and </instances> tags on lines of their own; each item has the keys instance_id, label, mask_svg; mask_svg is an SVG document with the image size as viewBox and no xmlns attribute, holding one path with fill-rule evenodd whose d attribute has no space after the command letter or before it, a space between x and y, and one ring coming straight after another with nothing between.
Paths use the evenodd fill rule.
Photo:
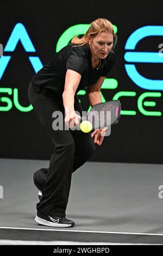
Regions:
<instances>
[{"instance_id":1,"label":"black backdrop wall with blue and green lettering behind the woman","mask_svg":"<svg viewBox=\"0 0 163 256\"><path fill-rule=\"evenodd\" d=\"M163 44L162 5L162 1L96 0L5 1L1 3L0 43L4 47L4 53L0 57L0 157L44 160L51 157L53 151L51 139L34 111L28 111L27 108L30 105L27 90L35 73L29 57L39 57L40 62L46 64L53 58L57 42L68 28L79 24L90 24L98 17L105 17L117 27L118 43L115 49L117 60L108 78L114 78L118 86L115 89L102 89L101 92L105 100L111 100L118 92L125 92L126 96L120 98L122 110L135 111L135 114L123 112L120 123L111 130L111 135L104 138L100 147L96 145L96 154L90 161L163 163L163 82L161 81L163 61L160 60L163 57L160 56L160 59L155 61L155 55L148 62L144 56L139 57L138 62L124 59L126 52L159 52L159 45ZM35 52L27 50L21 40L18 40L14 48L16 36L23 38L23 32L18 29L8 44L18 23L26 29ZM151 27L146 37L137 42L133 50L129 47L125 48L129 36L136 29L145 26L153 26L154 31L159 31L158 35L154 34ZM25 44L28 43L26 39L24 41ZM5 48L7 44L8 48ZM10 60L4 58L7 56L11 57ZM8 64L5 64L7 62ZM135 65L138 74L146 81L141 81L140 77L136 78L134 75L137 81L134 82L125 68L126 64ZM4 68L5 65L6 68ZM153 82L150 88L145 89L136 84L140 83L141 86L148 87L151 80ZM158 80L160 82L157 82ZM7 92L7 88L11 89ZM159 115L154 115L155 112L153 115L148 115L149 112L141 109L140 96L145 95L144 93L151 94L146 95L147 97L142 101L143 109L159 112ZM87 110L89 107L87 96L79 95L79 99L84 110ZM155 104L152 103L153 106L149 106L149 103L146 103L145 105L145 101L152 101ZM6 106L9 108L4 108Z\"/></svg>"}]
</instances>

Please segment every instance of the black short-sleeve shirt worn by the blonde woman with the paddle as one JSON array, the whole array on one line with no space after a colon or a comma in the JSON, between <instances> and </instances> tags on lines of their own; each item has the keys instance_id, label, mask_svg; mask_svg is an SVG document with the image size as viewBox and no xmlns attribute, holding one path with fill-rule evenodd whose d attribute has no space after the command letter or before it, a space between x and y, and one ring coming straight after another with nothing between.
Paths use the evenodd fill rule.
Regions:
<instances>
[{"instance_id":1,"label":"black short-sleeve shirt worn by the blonde woman with the paddle","mask_svg":"<svg viewBox=\"0 0 163 256\"><path fill-rule=\"evenodd\" d=\"M100 76L106 77L115 63L115 53L110 51L108 56L101 59L98 70L92 68L91 51L89 44L73 47L77 44L69 44L55 53L54 58L43 66L34 77L32 84L35 92L40 90L45 93L48 89L62 95L65 87L67 69L78 72L82 77L76 94L97 82Z\"/></svg>"}]
</instances>

